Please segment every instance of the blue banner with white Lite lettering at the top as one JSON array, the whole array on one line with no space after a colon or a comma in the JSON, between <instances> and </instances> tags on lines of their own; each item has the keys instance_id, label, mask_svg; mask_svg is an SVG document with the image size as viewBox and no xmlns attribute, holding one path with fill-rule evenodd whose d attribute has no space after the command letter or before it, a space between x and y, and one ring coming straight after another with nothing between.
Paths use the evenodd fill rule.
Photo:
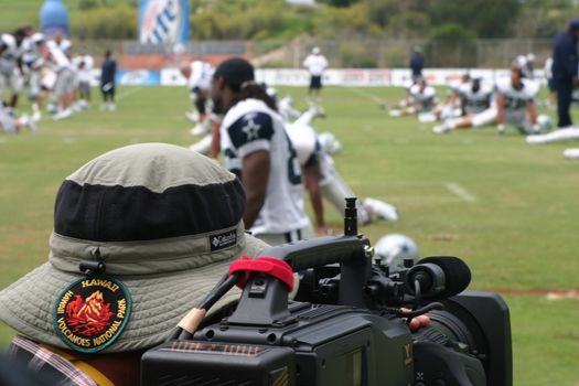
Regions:
<instances>
[{"instance_id":1,"label":"blue banner with white Lite lettering at the top","mask_svg":"<svg viewBox=\"0 0 579 386\"><path fill-rule=\"evenodd\" d=\"M189 41L189 0L139 0L139 41L152 44Z\"/></svg>"}]
</instances>

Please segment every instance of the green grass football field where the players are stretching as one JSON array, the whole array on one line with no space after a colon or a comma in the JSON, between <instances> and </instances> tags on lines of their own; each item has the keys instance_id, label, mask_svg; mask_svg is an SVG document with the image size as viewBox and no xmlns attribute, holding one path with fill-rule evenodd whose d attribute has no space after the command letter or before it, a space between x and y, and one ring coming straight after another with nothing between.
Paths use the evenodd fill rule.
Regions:
<instances>
[{"instance_id":1,"label":"green grass football field where the players are stretching","mask_svg":"<svg viewBox=\"0 0 579 386\"><path fill-rule=\"evenodd\" d=\"M286 93L303 107L304 89L279 89ZM361 230L373 242L407 234L421 256L464 258L471 288L511 290L504 298L515 384L578 386L579 300L547 300L536 291L579 287L579 162L562 158L570 144L532 147L514 130L502 138L493 129L436 136L430 125L378 108L376 98L393 103L401 95L330 87L329 116L314 122L342 141L336 167L356 194L386 200L401 214L397 223ZM116 112L96 106L67 121L45 119L36 135L0 133L0 288L46 261L54 197L66 175L125 144L194 141L184 88L125 87L119 97ZM340 215L330 211L330 225L340 228ZM0 346L12 334L0 326Z\"/></svg>"}]
</instances>

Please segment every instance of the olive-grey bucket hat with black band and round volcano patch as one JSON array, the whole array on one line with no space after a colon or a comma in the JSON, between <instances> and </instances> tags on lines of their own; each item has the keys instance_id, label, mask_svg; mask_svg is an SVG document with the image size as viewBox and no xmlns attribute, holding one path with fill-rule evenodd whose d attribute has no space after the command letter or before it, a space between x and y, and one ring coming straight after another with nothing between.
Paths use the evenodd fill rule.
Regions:
<instances>
[{"instance_id":1,"label":"olive-grey bucket hat with black band and round volcano patch","mask_svg":"<svg viewBox=\"0 0 579 386\"><path fill-rule=\"evenodd\" d=\"M153 346L232 261L267 247L245 233L245 205L234 174L187 149L107 152L62 183L49 261L0 292L0 320L78 352Z\"/></svg>"}]
</instances>

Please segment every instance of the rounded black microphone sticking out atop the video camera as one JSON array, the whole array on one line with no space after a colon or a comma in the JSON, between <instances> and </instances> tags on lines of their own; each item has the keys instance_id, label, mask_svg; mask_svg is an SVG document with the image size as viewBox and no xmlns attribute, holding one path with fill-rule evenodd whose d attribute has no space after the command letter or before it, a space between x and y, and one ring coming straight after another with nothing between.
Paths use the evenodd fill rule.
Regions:
<instances>
[{"instance_id":1,"label":"rounded black microphone sticking out atop the video camera","mask_svg":"<svg viewBox=\"0 0 579 386\"><path fill-rule=\"evenodd\" d=\"M411 294L415 294L415 281L420 283L422 298L446 299L467 289L471 270L458 257L432 256L421 259L406 272L406 287Z\"/></svg>"}]
</instances>

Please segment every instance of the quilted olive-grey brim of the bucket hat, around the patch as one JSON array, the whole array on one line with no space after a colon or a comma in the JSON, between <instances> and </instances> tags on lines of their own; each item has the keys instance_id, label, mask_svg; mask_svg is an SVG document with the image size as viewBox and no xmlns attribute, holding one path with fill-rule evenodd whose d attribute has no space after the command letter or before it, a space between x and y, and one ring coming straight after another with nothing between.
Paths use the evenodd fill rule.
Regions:
<instances>
[{"instance_id":1,"label":"quilted olive-grey brim of the bucket hat, around the patch","mask_svg":"<svg viewBox=\"0 0 579 386\"><path fill-rule=\"evenodd\" d=\"M181 318L215 287L232 261L244 255L257 257L268 247L250 235L245 235L245 246L236 247L238 251L230 259L157 276L117 278L130 293L132 310L124 332L103 352L143 350L163 342ZM53 310L58 294L79 277L81 274L58 270L51 262L40 266L0 292L0 320L33 340L68 349L55 332ZM230 304L239 294L237 288L232 289L210 314Z\"/></svg>"}]
</instances>

